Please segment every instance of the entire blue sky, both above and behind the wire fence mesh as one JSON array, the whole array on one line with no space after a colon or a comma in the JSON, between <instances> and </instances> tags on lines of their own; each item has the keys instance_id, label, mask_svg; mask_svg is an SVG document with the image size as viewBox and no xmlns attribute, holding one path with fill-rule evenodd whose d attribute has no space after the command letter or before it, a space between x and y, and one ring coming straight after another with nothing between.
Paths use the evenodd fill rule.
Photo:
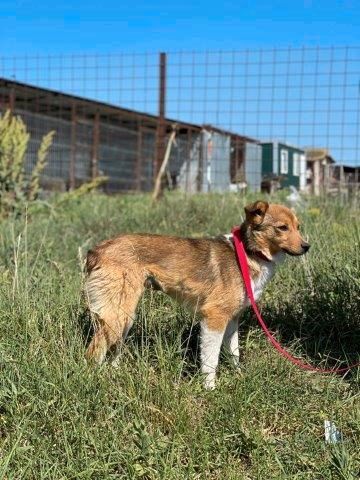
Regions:
<instances>
[{"instance_id":1,"label":"entire blue sky, both above and behind the wire fence mesh","mask_svg":"<svg viewBox=\"0 0 360 480\"><path fill-rule=\"evenodd\" d=\"M5 0L0 19L0 76L156 114L166 51L169 117L360 164L360 0Z\"/></svg>"}]
</instances>

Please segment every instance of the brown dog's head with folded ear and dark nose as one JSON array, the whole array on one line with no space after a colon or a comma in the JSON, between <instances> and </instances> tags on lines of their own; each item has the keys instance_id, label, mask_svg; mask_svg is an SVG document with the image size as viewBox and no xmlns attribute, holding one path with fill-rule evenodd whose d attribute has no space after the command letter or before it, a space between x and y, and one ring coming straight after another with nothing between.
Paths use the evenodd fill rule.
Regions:
<instances>
[{"instance_id":1,"label":"brown dog's head with folded ear and dark nose","mask_svg":"<svg viewBox=\"0 0 360 480\"><path fill-rule=\"evenodd\" d=\"M242 231L250 251L261 253L268 260L284 252L303 255L310 245L299 231L295 214L283 205L257 201L245 207Z\"/></svg>"}]
</instances>

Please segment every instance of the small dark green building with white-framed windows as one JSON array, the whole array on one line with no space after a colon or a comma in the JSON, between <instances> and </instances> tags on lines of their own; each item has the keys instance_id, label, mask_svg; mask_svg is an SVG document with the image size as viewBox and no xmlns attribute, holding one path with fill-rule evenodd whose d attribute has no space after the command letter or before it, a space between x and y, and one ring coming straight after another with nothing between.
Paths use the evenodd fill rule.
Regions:
<instances>
[{"instance_id":1,"label":"small dark green building with white-framed windows","mask_svg":"<svg viewBox=\"0 0 360 480\"><path fill-rule=\"evenodd\" d=\"M302 148L284 142L262 142L262 179L265 189L291 185L298 190L306 187L306 157Z\"/></svg>"}]
</instances>

